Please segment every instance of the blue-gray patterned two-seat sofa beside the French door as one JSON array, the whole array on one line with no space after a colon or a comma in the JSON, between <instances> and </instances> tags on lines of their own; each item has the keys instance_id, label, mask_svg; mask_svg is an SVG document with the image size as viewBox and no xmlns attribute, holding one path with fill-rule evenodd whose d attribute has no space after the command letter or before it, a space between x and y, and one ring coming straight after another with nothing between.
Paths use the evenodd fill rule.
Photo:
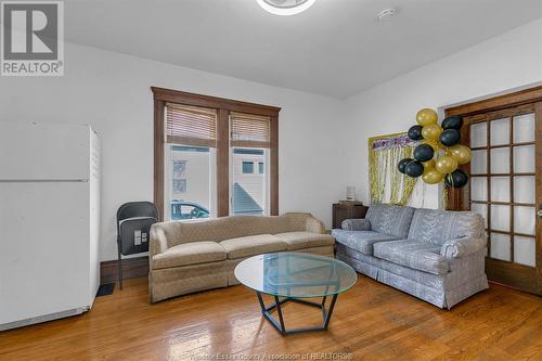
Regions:
<instances>
[{"instance_id":1,"label":"blue-gray patterned two-seat sofa beside the French door","mask_svg":"<svg viewBox=\"0 0 542 361\"><path fill-rule=\"evenodd\" d=\"M378 204L333 230L337 258L378 282L450 309L488 288L483 219Z\"/></svg>"}]
</instances>

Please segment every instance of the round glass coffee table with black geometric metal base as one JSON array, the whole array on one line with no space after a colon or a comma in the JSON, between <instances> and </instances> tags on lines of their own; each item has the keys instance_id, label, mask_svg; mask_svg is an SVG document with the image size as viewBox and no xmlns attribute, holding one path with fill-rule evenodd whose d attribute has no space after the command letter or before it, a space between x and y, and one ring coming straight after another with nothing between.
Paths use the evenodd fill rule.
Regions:
<instances>
[{"instance_id":1,"label":"round glass coffee table with black geometric metal base","mask_svg":"<svg viewBox=\"0 0 542 361\"><path fill-rule=\"evenodd\" d=\"M358 279L356 271L343 261L293 252L247 258L235 267L234 272L243 285L256 292L261 313L282 335L327 330L338 294L350 288ZM262 294L272 296L274 304L266 306ZM326 307L328 297L331 302ZM306 298L322 298L322 301ZM286 330L281 306L289 301L319 308L322 326ZM274 310L279 321L271 314Z\"/></svg>"}]
</instances>

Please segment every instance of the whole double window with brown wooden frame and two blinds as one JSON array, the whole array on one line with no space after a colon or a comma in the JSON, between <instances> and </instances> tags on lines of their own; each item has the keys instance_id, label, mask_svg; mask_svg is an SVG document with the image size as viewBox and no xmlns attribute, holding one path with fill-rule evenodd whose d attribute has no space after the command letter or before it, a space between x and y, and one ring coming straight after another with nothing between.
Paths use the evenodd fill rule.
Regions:
<instances>
[{"instance_id":1,"label":"whole double window with brown wooden frame and two blinds","mask_svg":"<svg viewBox=\"0 0 542 361\"><path fill-rule=\"evenodd\" d=\"M280 108L152 90L154 195L162 219L279 214Z\"/></svg>"}]
</instances>

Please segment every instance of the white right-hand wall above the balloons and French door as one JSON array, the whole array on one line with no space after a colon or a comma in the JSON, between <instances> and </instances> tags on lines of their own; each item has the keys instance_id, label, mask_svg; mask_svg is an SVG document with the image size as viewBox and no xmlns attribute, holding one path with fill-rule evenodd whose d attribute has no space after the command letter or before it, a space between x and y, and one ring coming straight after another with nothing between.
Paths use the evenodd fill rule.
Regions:
<instances>
[{"instance_id":1,"label":"white right-hand wall above the balloons and French door","mask_svg":"<svg viewBox=\"0 0 542 361\"><path fill-rule=\"evenodd\" d=\"M442 111L541 81L542 20L538 20L351 96L346 101L346 123L353 147L345 178L357 185L361 199L369 201L370 137L406 131L423 107ZM426 185L424 206L438 208L439 193L437 185Z\"/></svg>"}]
</instances>

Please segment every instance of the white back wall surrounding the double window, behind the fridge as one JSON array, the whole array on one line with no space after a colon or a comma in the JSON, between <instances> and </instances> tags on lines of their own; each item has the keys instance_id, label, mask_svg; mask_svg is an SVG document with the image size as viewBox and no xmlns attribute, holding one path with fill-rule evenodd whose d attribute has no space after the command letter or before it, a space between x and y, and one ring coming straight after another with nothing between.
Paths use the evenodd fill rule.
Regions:
<instances>
[{"instance_id":1,"label":"white back wall surrounding the double window, behind the fridge","mask_svg":"<svg viewBox=\"0 0 542 361\"><path fill-rule=\"evenodd\" d=\"M102 260L116 258L117 207L153 198L151 86L281 106L280 211L310 211L331 227L332 202L346 188L337 177L340 128L332 126L340 101L75 44L65 47L65 66L64 77L0 78L0 118L90 124L99 132Z\"/></svg>"}]
</instances>

